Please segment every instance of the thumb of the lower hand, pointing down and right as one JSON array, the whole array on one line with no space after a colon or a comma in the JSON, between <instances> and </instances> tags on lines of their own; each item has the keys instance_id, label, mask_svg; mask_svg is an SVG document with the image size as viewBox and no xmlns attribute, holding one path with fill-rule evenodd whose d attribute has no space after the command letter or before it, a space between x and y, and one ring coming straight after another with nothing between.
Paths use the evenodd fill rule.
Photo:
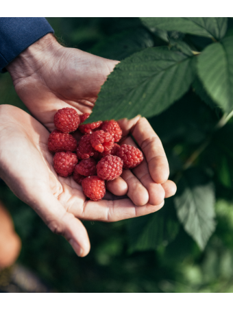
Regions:
<instances>
[{"instance_id":1,"label":"thumb of the lower hand, pointing down and right","mask_svg":"<svg viewBox=\"0 0 233 310\"><path fill-rule=\"evenodd\" d=\"M51 231L65 237L75 253L79 257L85 257L90 251L90 241L82 222L73 214L66 212L53 195L43 195L39 204L40 206L37 206L35 211Z\"/></svg>"}]
</instances>

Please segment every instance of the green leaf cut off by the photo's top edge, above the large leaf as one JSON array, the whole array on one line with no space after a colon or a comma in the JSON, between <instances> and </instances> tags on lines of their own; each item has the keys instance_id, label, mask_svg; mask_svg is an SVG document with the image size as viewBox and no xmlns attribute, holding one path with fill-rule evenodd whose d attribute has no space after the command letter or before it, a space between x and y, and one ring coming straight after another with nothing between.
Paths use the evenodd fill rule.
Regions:
<instances>
[{"instance_id":1,"label":"green leaf cut off by the photo's top edge, above the large leaf","mask_svg":"<svg viewBox=\"0 0 233 310\"><path fill-rule=\"evenodd\" d=\"M226 17L142 17L141 21L149 28L208 36L216 40L223 38L228 26Z\"/></svg>"}]
</instances>

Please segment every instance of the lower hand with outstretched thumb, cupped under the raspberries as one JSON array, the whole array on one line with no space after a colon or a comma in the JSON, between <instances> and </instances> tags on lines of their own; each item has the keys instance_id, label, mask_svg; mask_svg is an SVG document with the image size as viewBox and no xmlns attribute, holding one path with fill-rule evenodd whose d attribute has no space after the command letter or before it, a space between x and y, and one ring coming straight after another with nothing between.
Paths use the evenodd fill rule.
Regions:
<instances>
[{"instance_id":1,"label":"lower hand with outstretched thumb, cupped under the raspberries","mask_svg":"<svg viewBox=\"0 0 233 310\"><path fill-rule=\"evenodd\" d=\"M132 134L137 134L138 126L132 126L136 119L124 119L121 123L124 134L130 128ZM53 233L63 235L80 257L86 256L90 250L88 234L80 219L114 222L146 215L163 206L164 201L158 205L136 206L132 200L116 197L109 192L100 202L86 200L82 187L72 176L62 178L54 171L53 155L47 148L48 136L45 127L23 110L14 106L0 106L0 177L17 197L34 208ZM140 139L138 143L141 142ZM153 152L147 152L147 143L142 147L147 160L153 165L154 159L149 160ZM139 175L140 169L135 173ZM126 182L130 188L129 178ZM118 190L114 182L108 184L108 189L113 193ZM164 184L166 195L171 194Z\"/></svg>"}]
</instances>

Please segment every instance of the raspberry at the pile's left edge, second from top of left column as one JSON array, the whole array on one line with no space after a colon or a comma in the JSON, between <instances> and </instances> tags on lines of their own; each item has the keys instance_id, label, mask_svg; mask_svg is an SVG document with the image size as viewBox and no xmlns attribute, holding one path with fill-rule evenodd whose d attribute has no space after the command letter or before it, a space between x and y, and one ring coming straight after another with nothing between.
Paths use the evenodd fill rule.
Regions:
<instances>
[{"instance_id":1,"label":"raspberry at the pile's left edge, second from top of left column","mask_svg":"<svg viewBox=\"0 0 233 310\"><path fill-rule=\"evenodd\" d=\"M48 140L49 151L51 152L75 152L77 149L77 141L71 134L64 134L59 130L53 130L49 134Z\"/></svg>"}]
</instances>

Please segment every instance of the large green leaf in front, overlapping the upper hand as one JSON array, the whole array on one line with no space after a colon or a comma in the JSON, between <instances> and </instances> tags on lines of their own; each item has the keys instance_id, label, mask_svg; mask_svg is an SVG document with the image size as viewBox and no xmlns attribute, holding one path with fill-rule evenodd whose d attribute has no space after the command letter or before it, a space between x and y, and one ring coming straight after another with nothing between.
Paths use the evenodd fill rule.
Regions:
<instances>
[{"instance_id":1,"label":"large green leaf in front, overlapping the upper hand","mask_svg":"<svg viewBox=\"0 0 233 310\"><path fill-rule=\"evenodd\" d=\"M188 91L193 67L193 56L167 47L134 53L108 76L89 121L159 114Z\"/></svg>"}]
</instances>

